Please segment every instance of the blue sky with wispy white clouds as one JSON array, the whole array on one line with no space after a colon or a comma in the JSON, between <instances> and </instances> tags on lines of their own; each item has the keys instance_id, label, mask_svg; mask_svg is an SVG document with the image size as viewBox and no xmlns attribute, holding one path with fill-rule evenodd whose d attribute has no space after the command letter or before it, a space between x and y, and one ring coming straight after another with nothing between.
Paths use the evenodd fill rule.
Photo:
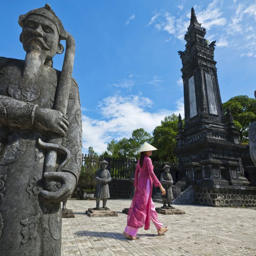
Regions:
<instances>
[{"instance_id":1,"label":"blue sky with wispy white clouds","mask_svg":"<svg viewBox=\"0 0 256 256\"><path fill-rule=\"evenodd\" d=\"M1 5L0 56L24 59L18 17L41 0ZM215 60L222 102L256 90L255 0L63 0L49 1L76 40L73 76L83 115L83 152L98 153L112 139L148 132L172 113L183 115L184 34L191 7L217 40ZM61 69L63 56L54 58Z\"/></svg>"}]
</instances>

